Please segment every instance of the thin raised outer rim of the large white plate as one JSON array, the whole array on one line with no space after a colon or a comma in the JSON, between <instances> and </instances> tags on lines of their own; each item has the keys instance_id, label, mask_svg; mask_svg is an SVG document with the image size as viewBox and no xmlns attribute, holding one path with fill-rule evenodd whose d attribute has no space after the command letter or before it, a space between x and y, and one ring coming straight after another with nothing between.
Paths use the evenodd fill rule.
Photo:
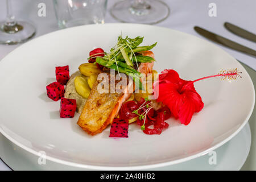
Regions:
<instances>
[{"instance_id":1,"label":"thin raised outer rim of the large white plate","mask_svg":"<svg viewBox=\"0 0 256 182\"><path fill-rule=\"evenodd\" d=\"M36 37L35 39L32 39L30 41L28 41L27 43L24 43L22 45L20 45L19 47L15 48L13 51L11 51L10 53L8 53L5 57L3 57L2 60L0 60L0 66L5 63L5 60L6 60L6 57L9 56L11 53L13 53L14 51L16 51L17 49L20 49L22 47L24 47L24 45L27 45L27 44L31 44L35 41L37 41L38 39L42 39L44 38L45 36L48 36L49 34L56 34L56 32L59 32L59 31L71 31L73 29L76 29L76 28L81 28L81 27L86 27L86 26L105 26L105 25L108 25L108 26L112 26L112 25L120 25L122 26L123 24L129 24L129 26L148 26L148 27L158 27L158 28L163 28L165 30L172 30L172 31L175 31L175 32L179 32L179 33L182 33L182 34L185 34L185 35L188 35L188 36L193 36L193 38L196 38L196 39L200 39L200 40L203 40L204 42L207 42L208 44L210 44L211 46L214 46L216 48L218 48L219 50L221 50L222 52L225 52L226 55L230 56L230 58L232 58L234 61L236 61L238 64L241 65L241 67L243 68L242 64L239 63L239 61L237 61L232 55L230 55L228 52L226 52L224 49L216 46L215 44L213 44L212 42L209 42L208 40L205 40L205 39L201 39L195 35L192 35L192 34L188 34L187 32L182 32L182 31L178 31L178 30L174 30L172 28L167 28L167 27L161 27L161 26L153 26L153 25L148 25L148 24L135 24L135 23L105 23L105 24L88 24L88 25L84 25L84 26L77 26L77 27L71 27L71 28L65 28L65 29L62 29L62 30L57 30L57 31L53 31L53 32L49 32L48 34L44 34L44 35L41 35L41 36L38 36ZM247 76L250 78L250 85L252 86L253 90L254 90L254 93L253 93L253 98L254 98L254 101L253 101L253 105L251 106L251 109L250 109L250 112L249 114L247 114L247 117L245 119L245 121L243 121L243 123L241 124L241 126L236 130L234 131L232 134L229 135L229 137L227 137L226 139L222 140L221 142L215 144L213 147L210 147L208 148L207 150L204 150L204 151L201 151L201 152L198 152L196 154L192 154L192 155L189 155L185 158L181 158L181 159L175 159L175 160L171 160L169 162L160 162L160 163L155 163L155 164L146 164L146 165L138 165L138 166L117 166L117 167L112 167L112 166L96 166L96 165L91 165L91 164L80 164L80 163L75 163L75 162L69 162L67 160L63 160L63 159L58 159L56 157L52 157L52 156L48 156L46 155L46 159L47 160L51 160L53 162L56 162L56 163L60 163L60 164L65 164L65 165L68 165L68 166L73 166L73 167L79 167L79 168L85 168L85 169L96 169L96 170L138 170L138 169L150 169L150 168L158 168L158 167L164 167L164 166L170 166L172 164L177 164L177 163L182 163L182 162L185 162L187 160L191 160L191 159L195 159L195 158L198 158L200 156L203 156L205 154L208 154L210 151L213 151L215 150L216 148L222 146L223 144L225 144L226 142L228 142L230 139L232 139L234 136L236 136L241 130L242 128L246 125L246 123L249 121L250 117L251 117L251 114L253 113L253 110L254 110L254 106L255 106L255 88L254 88L254 84L253 84L253 81L251 80L251 77L249 75L249 73L247 73L246 69L243 68L247 74ZM33 150L32 148L30 147L27 147L25 146L24 144L18 142L17 140L15 140L14 138L12 138L9 134L7 134L4 129L2 129L2 127L0 126L0 133L2 133L7 139L9 139L11 142L13 142L14 144L16 144L17 146L23 148L24 150L28 151L28 152L31 152L32 154L36 155L36 156L40 156L39 152Z\"/></svg>"}]
</instances>

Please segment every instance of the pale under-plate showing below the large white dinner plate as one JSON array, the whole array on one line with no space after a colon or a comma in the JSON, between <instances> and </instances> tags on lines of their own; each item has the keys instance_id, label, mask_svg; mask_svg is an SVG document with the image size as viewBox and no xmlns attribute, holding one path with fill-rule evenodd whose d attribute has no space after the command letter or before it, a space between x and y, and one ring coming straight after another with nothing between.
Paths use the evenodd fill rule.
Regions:
<instances>
[{"instance_id":1,"label":"pale under-plate showing below the large white dinner plate","mask_svg":"<svg viewBox=\"0 0 256 182\"><path fill-rule=\"evenodd\" d=\"M187 162L150 168L150 170L240 170L249 154L251 145L251 131L249 123L229 142L214 150L214 153L203 155ZM216 157L216 163L209 163ZM1 159L13 170L84 170L73 166L46 160L45 164L38 164L39 157L16 146L13 142L0 134ZM1 160L0 160L1 168Z\"/></svg>"}]
</instances>

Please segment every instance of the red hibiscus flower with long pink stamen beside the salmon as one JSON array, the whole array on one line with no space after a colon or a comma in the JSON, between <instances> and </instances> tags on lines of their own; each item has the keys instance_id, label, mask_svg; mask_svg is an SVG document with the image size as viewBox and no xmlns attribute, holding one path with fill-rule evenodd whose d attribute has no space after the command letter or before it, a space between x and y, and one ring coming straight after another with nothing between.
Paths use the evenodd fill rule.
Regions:
<instances>
[{"instance_id":1,"label":"red hibiscus flower with long pink stamen beside the salmon","mask_svg":"<svg viewBox=\"0 0 256 182\"><path fill-rule=\"evenodd\" d=\"M179 77L179 74L173 69L165 69L159 75L156 83L159 84L158 102L163 102L171 110L171 113L180 122L188 125L194 113L198 113L204 107L204 102L193 85L194 82L205 78L221 76L222 78L235 79L240 76L237 69L222 71L218 75L208 76L195 81L186 81ZM240 76L241 77L241 76ZM156 84L155 83L155 84Z\"/></svg>"}]
</instances>

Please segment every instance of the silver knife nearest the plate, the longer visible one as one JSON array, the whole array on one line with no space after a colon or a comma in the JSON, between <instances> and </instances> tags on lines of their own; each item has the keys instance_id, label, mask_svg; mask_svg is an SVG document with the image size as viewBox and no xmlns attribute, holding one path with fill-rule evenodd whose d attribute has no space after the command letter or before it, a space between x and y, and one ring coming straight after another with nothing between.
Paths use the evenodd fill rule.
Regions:
<instances>
[{"instance_id":1,"label":"silver knife nearest the plate, the longer visible one","mask_svg":"<svg viewBox=\"0 0 256 182\"><path fill-rule=\"evenodd\" d=\"M199 33L200 35L204 36L207 39L212 40L213 42L219 43L223 46L235 49L236 51L241 51L243 53L247 53L248 55L252 55L256 57L256 51L254 49L242 46L241 44L238 44L236 42L233 42L232 40L226 39L220 35L214 34L213 32L205 30L204 28L200 28L196 26L194 27L194 29L197 33Z\"/></svg>"}]
</instances>

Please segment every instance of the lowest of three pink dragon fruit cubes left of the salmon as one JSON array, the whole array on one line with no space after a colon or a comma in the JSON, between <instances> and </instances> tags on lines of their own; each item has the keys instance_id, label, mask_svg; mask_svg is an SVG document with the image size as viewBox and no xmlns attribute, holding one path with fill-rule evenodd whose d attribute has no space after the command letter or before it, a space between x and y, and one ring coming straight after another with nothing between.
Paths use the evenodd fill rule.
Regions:
<instances>
[{"instance_id":1,"label":"lowest of three pink dragon fruit cubes left of the salmon","mask_svg":"<svg viewBox=\"0 0 256 182\"><path fill-rule=\"evenodd\" d=\"M60 100L60 117L73 118L76 112L76 100L62 97Z\"/></svg>"}]
</instances>

